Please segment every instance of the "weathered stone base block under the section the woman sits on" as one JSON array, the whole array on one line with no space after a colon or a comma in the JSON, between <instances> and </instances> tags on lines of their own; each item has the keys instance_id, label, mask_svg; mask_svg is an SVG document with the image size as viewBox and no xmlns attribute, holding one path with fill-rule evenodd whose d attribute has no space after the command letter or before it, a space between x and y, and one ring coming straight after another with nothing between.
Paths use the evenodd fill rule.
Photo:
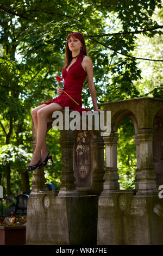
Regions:
<instances>
[{"instance_id":1,"label":"weathered stone base block under the section the woman sits on","mask_svg":"<svg viewBox=\"0 0 163 256\"><path fill-rule=\"evenodd\" d=\"M40 192L28 199L27 245L96 245L97 196L58 197Z\"/></svg>"}]
</instances>

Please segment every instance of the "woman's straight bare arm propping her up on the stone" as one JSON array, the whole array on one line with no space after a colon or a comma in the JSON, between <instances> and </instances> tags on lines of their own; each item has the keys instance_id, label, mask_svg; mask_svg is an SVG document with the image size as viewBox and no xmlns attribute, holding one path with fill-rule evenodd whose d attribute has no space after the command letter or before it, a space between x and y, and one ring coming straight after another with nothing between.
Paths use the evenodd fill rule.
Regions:
<instances>
[{"instance_id":1,"label":"woman's straight bare arm propping her up on the stone","mask_svg":"<svg viewBox=\"0 0 163 256\"><path fill-rule=\"evenodd\" d=\"M97 95L96 95L95 84L93 83L93 64L90 57L85 56L83 58L82 66L87 73L88 87L89 87L91 97L92 97L92 102L93 102L93 110L101 111L97 107Z\"/></svg>"}]
</instances>

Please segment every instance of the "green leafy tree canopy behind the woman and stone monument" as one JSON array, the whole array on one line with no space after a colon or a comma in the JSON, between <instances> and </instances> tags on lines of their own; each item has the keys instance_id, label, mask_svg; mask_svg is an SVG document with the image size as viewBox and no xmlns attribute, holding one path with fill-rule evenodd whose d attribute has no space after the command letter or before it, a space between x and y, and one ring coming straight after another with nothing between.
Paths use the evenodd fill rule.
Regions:
<instances>
[{"instance_id":1,"label":"green leafy tree canopy behind the woman and stone monument","mask_svg":"<svg viewBox=\"0 0 163 256\"><path fill-rule=\"evenodd\" d=\"M135 56L138 36L141 34L153 43L161 38L162 26L153 19L155 11L162 19L161 0L2 0L0 4L0 139L4 145L21 149L21 145L32 153L32 125L30 110L41 102L57 96L55 75L61 76L64 65L66 36L72 31L80 31L85 36L87 54L94 66L94 81L98 107L106 101L132 99L148 96L143 90L142 70L139 63L148 56ZM141 41L139 41L141 44ZM159 51L159 49L157 50ZM155 59L151 52L150 59ZM147 62L152 60L147 60ZM155 62L156 63L156 62ZM162 77L161 71L155 72ZM162 97L161 80L150 88L150 95ZM149 83L146 80L146 83ZM83 103L92 106L87 81L84 83ZM122 125L122 133L128 121ZM132 131L131 126L128 126ZM132 133L134 135L134 133ZM53 143L50 137L53 137ZM122 166L126 164L126 137L123 138ZM55 155L55 174L49 167L47 179L59 180L61 151L59 134L50 131L47 135L49 150ZM16 148L15 148L16 149ZM16 150L18 150L16 149ZM134 149L131 147L132 152ZM18 153L20 154L20 153ZM24 154L25 155L25 154ZM10 179L10 173L20 169L15 160L7 164L1 155L0 182L3 177ZM28 155L26 155L28 156ZM134 156L134 153L133 153ZM22 158L22 170L27 161ZM57 170L57 171L56 171ZM29 176L31 176L29 174ZM23 177L23 172L22 172ZM22 178L21 177L21 178ZM30 177L29 177L30 178ZM21 190L21 185L19 183ZM7 189L8 196L11 194ZM12 191L14 194L14 191ZM14 194L15 195L15 194Z\"/></svg>"}]
</instances>

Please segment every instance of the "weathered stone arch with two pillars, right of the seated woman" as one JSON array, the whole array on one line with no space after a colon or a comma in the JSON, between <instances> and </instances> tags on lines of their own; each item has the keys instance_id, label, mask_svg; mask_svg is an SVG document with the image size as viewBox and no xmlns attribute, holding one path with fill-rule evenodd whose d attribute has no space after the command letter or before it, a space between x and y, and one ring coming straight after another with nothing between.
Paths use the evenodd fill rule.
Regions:
<instances>
[{"instance_id":1,"label":"weathered stone arch with two pillars, right of the seated woman","mask_svg":"<svg viewBox=\"0 0 163 256\"><path fill-rule=\"evenodd\" d=\"M153 120L160 113L163 100L149 97L103 103L104 111L111 112L111 135L104 138L107 148L104 191L117 190L117 127L125 117L133 120L137 152L136 194L156 194L156 181L153 168ZM161 112L162 113L162 112ZM157 114L158 115L158 114Z\"/></svg>"}]
</instances>

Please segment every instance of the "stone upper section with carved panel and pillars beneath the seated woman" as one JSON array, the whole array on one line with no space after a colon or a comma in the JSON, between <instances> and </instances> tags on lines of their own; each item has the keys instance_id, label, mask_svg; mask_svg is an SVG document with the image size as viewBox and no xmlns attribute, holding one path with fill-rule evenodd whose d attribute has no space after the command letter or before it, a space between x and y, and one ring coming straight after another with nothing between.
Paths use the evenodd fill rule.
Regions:
<instances>
[{"instance_id":1,"label":"stone upper section with carved panel and pillars beneath the seated woman","mask_svg":"<svg viewBox=\"0 0 163 256\"><path fill-rule=\"evenodd\" d=\"M65 111L61 111L63 120ZM71 113L71 110L70 110ZM48 130L55 118L48 117ZM71 121L71 118L70 118ZM82 124L82 115L81 115ZM33 124L33 151L36 146L36 131ZM100 130L61 130L62 176L58 196L75 194L100 194L103 190L104 141ZM52 167L53 168L53 167ZM55 169L54 169L55 171ZM34 170L31 195L45 190L45 173Z\"/></svg>"}]
</instances>

